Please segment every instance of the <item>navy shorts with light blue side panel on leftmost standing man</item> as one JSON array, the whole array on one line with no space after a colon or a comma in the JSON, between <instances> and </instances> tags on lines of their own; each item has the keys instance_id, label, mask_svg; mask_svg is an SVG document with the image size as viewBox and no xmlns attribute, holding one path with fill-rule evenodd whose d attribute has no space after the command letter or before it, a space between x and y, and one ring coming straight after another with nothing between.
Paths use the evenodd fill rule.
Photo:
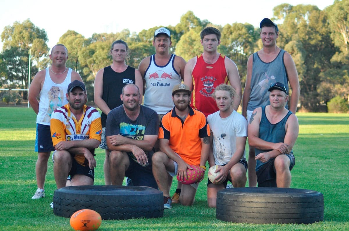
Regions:
<instances>
[{"instance_id":1,"label":"navy shorts with light blue side panel on leftmost standing man","mask_svg":"<svg viewBox=\"0 0 349 231\"><path fill-rule=\"evenodd\" d=\"M36 152L52 152L54 151L51 130L49 125L36 124L35 137Z\"/></svg>"}]
</instances>

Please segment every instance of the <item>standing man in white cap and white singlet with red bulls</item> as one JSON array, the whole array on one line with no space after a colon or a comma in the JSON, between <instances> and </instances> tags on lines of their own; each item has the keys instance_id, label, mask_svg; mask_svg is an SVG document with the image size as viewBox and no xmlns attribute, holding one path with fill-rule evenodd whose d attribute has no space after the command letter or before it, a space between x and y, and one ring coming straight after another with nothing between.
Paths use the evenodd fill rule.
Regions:
<instances>
[{"instance_id":1,"label":"standing man in white cap and white singlet with red bulls","mask_svg":"<svg viewBox=\"0 0 349 231\"><path fill-rule=\"evenodd\" d=\"M170 54L171 33L165 27L160 27L154 33L153 46L155 54L144 58L138 70L144 82L144 106L157 112L159 122L168 111L174 107L172 89L184 78L184 58ZM155 144L158 151L158 142ZM179 202L180 186L172 197L172 203Z\"/></svg>"}]
</instances>

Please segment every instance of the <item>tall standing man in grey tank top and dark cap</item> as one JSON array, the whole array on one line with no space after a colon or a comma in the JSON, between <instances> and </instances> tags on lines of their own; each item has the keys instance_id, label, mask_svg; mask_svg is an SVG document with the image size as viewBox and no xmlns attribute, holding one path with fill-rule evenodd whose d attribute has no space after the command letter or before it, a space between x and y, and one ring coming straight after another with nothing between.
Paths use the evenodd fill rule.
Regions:
<instances>
[{"instance_id":1,"label":"tall standing man in grey tank top and dark cap","mask_svg":"<svg viewBox=\"0 0 349 231\"><path fill-rule=\"evenodd\" d=\"M250 55L247 61L247 74L242 97L242 115L250 120L252 111L260 106L269 104L268 92L270 84L281 82L287 92L288 82L292 90L290 96L290 111L296 113L299 99L299 80L296 65L289 53L276 46L279 37L277 25L269 18L260 22L260 38L263 48ZM288 108L286 104L286 108ZM248 158L248 185L257 184L254 166L254 147L250 146Z\"/></svg>"}]
</instances>

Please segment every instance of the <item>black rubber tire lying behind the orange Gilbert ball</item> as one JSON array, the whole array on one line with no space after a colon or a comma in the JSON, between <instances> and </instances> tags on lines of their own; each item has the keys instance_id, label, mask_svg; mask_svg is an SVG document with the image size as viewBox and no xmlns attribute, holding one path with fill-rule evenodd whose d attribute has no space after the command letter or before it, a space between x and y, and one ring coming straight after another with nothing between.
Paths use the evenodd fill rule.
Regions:
<instances>
[{"instance_id":1,"label":"black rubber tire lying behind the orange Gilbert ball","mask_svg":"<svg viewBox=\"0 0 349 231\"><path fill-rule=\"evenodd\" d=\"M156 218L164 214L163 193L143 186L69 186L54 191L53 213L70 217L77 210L92 209L103 220Z\"/></svg>"}]
</instances>

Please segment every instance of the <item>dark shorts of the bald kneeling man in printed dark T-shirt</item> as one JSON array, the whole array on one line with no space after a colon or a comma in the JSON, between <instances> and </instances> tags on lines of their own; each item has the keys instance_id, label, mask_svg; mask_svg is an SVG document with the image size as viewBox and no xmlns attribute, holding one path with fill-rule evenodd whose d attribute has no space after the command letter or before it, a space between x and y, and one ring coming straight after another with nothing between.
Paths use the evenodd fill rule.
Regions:
<instances>
[{"instance_id":1,"label":"dark shorts of the bald kneeling man in printed dark T-shirt","mask_svg":"<svg viewBox=\"0 0 349 231\"><path fill-rule=\"evenodd\" d=\"M151 170L151 157L153 156L153 152L148 152L149 165L146 167L142 167L137 162L135 162L129 155L127 156L130 165L128 166L128 169L125 172L125 176L132 180L132 185L148 186L154 189L158 189L157 183L153 175L153 171Z\"/></svg>"}]
</instances>

